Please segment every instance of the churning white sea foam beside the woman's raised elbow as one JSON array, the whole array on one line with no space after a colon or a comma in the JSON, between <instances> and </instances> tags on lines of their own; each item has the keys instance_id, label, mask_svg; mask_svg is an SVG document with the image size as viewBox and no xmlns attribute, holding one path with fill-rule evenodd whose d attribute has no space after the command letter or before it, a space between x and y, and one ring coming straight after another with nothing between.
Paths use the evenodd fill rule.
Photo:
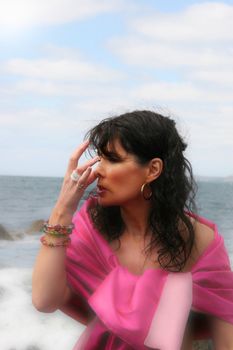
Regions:
<instances>
[{"instance_id":1,"label":"churning white sea foam beside the woman's raised elbow","mask_svg":"<svg viewBox=\"0 0 233 350\"><path fill-rule=\"evenodd\" d=\"M31 276L30 268L0 270L0 349L72 350L85 326L60 311L37 311Z\"/></svg>"}]
</instances>

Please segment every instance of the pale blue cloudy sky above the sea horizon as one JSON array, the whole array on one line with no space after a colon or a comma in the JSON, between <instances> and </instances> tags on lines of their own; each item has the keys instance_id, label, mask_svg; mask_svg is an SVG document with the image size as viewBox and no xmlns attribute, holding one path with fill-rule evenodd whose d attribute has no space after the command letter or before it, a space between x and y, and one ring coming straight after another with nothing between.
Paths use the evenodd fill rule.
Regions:
<instances>
[{"instance_id":1,"label":"pale blue cloudy sky above the sea horizon","mask_svg":"<svg viewBox=\"0 0 233 350\"><path fill-rule=\"evenodd\" d=\"M0 0L1 175L63 176L134 109L175 119L195 175L233 175L233 0Z\"/></svg>"}]
</instances>

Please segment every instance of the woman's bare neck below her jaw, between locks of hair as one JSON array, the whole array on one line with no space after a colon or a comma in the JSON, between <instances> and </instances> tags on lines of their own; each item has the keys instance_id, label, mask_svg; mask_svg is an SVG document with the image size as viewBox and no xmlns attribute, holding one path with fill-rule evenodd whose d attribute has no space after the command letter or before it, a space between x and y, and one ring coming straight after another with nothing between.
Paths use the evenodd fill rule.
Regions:
<instances>
[{"instance_id":1,"label":"woman's bare neck below her jaw, between locks of hair","mask_svg":"<svg viewBox=\"0 0 233 350\"><path fill-rule=\"evenodd\" d=\"M148 216L151 203L144 199L131 201L121 206L121 216L125 223L125 235L133 240L141 240L148 233Z\"/></svg>"}]
</instances>

